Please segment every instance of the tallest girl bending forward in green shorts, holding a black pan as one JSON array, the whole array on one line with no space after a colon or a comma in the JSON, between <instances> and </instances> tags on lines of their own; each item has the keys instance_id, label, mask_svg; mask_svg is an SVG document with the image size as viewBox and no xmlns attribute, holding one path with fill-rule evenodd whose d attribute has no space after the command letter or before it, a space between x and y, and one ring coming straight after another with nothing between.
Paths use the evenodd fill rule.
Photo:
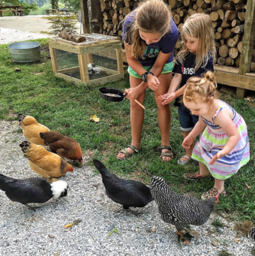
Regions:
<instances>
[{"instance_id":1,"label":"tallest girl bending forward in green shorts, holding a black pan","mask_svg":"<svg viewBox=\"0 0 255 256\"><path fill-rule=\"evenodd\" d=\"M158 123L161 133L161 155L164 161L173 157L169 145L171 123L170 106L161 105L158 96L167 93L172 79L173 50L178 38L177 27L169 7L163 0L145 0L130 13L123 28L123 38L128 59L130 87L126 98L130 100L131 144L122 149L118 159L126 159L137 153L141 146L143 104L145 90L155 91Z\"/></svg>"}]
</instances>

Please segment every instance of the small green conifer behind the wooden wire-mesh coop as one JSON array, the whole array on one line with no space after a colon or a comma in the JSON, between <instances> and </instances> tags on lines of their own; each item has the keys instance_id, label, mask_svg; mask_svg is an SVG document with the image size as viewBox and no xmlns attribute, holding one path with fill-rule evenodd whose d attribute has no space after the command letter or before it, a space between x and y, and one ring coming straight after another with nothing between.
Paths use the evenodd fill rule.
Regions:
<instances>
[{"instance_id":1,"label":"small green conifer behind the wooden wire-mesh coop","mask_svg":"<svg viewBox=\"0 0 255 256\"><path fill-rule=\"evenodd\" d=\"M58 14L56 16L47 16L43 17L49 20L52 24L51 29L53 29L53 34L58 34L61 30L67 29L69 31L73 31L75 29L75 24L77 22L75 15L67 15L67 14Z\"/></svg>"}]
</instances>

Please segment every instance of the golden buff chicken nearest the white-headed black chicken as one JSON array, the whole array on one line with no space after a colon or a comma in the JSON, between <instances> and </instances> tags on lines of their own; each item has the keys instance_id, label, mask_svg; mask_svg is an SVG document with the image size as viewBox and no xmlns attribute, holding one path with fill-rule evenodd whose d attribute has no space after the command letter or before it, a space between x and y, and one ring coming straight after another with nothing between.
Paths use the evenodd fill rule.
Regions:
<instances>
[{"instance_id":1,"label":"golden buff chicken nearest the white-headed black chicken","mask_svg":"<svg viewBox=\"0 0 255 256\"><path fill-rule=\"evenodd\" d=\"M28 159L31 169L47 178L49 182L57 181L66 172L73 172L74 168L62 157L47 151L43 146L36 145L30 141L23 141L19 145Z\"/></svg>"}]
</instances>

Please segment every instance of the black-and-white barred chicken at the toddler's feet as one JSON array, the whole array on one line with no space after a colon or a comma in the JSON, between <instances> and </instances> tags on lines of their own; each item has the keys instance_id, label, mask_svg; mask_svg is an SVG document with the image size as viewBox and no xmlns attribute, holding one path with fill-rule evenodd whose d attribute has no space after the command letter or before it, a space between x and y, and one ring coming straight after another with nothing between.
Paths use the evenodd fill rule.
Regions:
<instances>
[{"instance_id":1,"label":"black-and-white barred chicken at the toddler's feet","mask_svg":"<svg viewBox=\"0 0 255 256\"><path fill-rule=\"evenodd\" d=\"M201 226L205 224L218 202L216 198L198 200L191 196L182 196L171 189L160 177L152 177L150 191L158 205L159 213L164 222L175 225L177 235L184 240L181 231L186 225ZM188 244L188 241L184 242Z\"/></svg>"}]
</instances>

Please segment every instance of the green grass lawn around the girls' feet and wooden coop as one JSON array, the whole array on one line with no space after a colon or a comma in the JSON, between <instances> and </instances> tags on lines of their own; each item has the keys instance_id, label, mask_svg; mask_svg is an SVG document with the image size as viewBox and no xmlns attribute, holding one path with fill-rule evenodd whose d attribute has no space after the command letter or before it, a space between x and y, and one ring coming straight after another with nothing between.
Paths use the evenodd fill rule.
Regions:
<instances>
[{"instance_id":1,"label":"green grass lawn around the girls' feet and wooden coop","mask_svg":"<svg viewBox=\"0 0 255 256\"><path fill-rule=\"evenodd\" d=\"M47 44L46 39L36 41L42 45ZM160 132L157 108L154 94L150 90L146 91L144 102L146 110L142 152L128 160L119 161L116 154L131 140L129 101L107 102L98 93L102 86L78 86L56 78L51 62L46 58L48 54L42 52L42 60L38 64L18 65L10 62L7 45L0 45L0 119L17 120L16 116L13 118L9 113L31 115L51 130L77 139L85 152L93 152L93 158L106 162L109 169L118 175L136 176L143 178L145 182L149 181L152 175L158 175L166 179L176 191L192 192L198 198L212 188L213 179L186 182L182 178L186 171L198 170L198 164L195 161L186 167L177 164L184 149L181 146L183 135L175 107L172 107L170 133L175 158L171 162L159 160ZM15 72L15 67L21 68L21 72ZM105 86L129 88L128 75L122 81ZM221 98L246 120L250 134L251 160L237 175L226 181L227 196L220 197L216 209L231 214L236 219L255 221L255 104L237 100L227 94L223 94ZM95 114L100 118L99 123L90 121L90 116ZM92 165L92 162L89 164ZM246 183L251 189L247 188Z\"/></svg>"}]
</instances>

